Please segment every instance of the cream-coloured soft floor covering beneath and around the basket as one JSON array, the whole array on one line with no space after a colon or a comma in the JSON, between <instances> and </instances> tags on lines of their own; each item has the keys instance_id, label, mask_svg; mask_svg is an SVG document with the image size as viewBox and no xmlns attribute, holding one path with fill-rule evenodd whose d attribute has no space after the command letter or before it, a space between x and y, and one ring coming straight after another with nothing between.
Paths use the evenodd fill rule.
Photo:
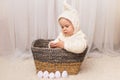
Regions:
<instances>
[{"instance_id":1,"label":"cream-coloured soft floor covering beneath and around the basket","mask_svg":"<svg viewBox=\"0 0 120 80\"><path fill-rule=\"evenodd\" d=\"M32 57L0 56L0 80L41 79L36 75ZM53 80L120 80L120 56L98 54L98 56L87 57L78 75Z\"/></svg>"}]
</instances>

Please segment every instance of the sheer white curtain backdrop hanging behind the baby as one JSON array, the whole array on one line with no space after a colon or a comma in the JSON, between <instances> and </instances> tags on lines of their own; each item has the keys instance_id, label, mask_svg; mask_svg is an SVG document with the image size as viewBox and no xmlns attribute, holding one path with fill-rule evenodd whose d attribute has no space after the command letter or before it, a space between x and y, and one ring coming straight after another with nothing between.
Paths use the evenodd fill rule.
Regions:
<instances>
[{"instance_id":1,"label":"sheer white curtain backdrop hanging behind the baby","mask_svg":"<svg viewBox=\"0 0 120 80\"><path fill-rule=\"evenodd\" d=\"M33 40L56 38L63 0L0 0L0 54L21 54ZM68 0L80 14L89 51L120 52L120 0Z\"/></svg>"}]
</instances>

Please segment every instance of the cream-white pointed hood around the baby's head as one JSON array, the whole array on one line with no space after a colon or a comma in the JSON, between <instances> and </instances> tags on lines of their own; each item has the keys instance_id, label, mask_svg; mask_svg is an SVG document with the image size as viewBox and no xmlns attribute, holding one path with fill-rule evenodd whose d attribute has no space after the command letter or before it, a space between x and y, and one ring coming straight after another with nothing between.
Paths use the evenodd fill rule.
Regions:
<instances>
[{"instance_id":1,"label":"cream-white pointed hood around the baby's head","mask_svg":"<svg viewBox=\"0 0 120 80\"><path fill-rule=\"evenodd\" d=\"M79 20L79 14L78 12L73 9L67 2L64 0L64 11L63 13L58 17L58 21L60 18L66 18L71 21L71 23L74 26L74 33L78 32L80 30L80 20Z\"/></svg>"}]
</instances>

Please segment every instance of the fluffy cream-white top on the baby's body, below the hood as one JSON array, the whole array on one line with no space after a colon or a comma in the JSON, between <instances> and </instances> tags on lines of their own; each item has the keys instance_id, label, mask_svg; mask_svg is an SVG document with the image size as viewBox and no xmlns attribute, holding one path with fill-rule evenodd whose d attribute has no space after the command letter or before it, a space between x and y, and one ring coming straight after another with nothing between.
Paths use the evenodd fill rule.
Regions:
<instances>
[{"instance_id":1,"label":"fluffy cream-white top on the baby's body, below the hood","mask_svg":"<svg viewBox=\"0 0 120 80\"><path fill-rule=\"evenodd\" d=\"M87 47L86 36L81 30L70 37L65 37L60 33L55 41L59 40L64 41L64 49L73 53L82 53Z\"/></svg>"}]
</instances>

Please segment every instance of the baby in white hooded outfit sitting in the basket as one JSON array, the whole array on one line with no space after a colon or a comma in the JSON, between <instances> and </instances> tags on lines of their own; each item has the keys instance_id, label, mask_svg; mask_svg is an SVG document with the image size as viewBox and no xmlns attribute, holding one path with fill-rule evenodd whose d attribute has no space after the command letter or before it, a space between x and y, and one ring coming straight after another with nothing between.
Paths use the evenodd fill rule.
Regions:
<instances>
[{"instance_id":1,"label":"baby in white hooded outfit sitting in the basket","mask_svg":"<svg viewBox=\"0 0 120 80\"><path fill-rule=\"evenodd\" d=\"M49 46L63 48L76 54L82 53L87 47L87 40L80 30L79 22L77 11L65 2L64 12L58 17L62 31L54 41L49 43Z\"/></svg>"}]
</instances>

